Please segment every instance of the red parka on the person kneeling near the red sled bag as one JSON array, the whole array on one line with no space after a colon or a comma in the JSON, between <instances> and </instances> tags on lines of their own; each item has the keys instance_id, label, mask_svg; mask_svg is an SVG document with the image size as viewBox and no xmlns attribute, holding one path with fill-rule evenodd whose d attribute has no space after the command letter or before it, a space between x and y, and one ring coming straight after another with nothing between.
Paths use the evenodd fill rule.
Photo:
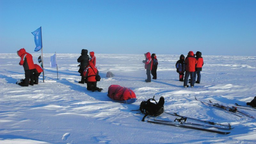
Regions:
<instances>
[{"instance_id":1,"label":"red parka on the person kneeling near the red sled bag","mask_svg":"<svg viewBox=\"0 0 256 144\"><path fill-rule=\"evenodd\" d=\"M89 82L95 82L95 75L99 74L97 67L93 65L92 62L89 61L89 65L85 68L83 75L87 78Z\"/></svg>"}]
</instances>

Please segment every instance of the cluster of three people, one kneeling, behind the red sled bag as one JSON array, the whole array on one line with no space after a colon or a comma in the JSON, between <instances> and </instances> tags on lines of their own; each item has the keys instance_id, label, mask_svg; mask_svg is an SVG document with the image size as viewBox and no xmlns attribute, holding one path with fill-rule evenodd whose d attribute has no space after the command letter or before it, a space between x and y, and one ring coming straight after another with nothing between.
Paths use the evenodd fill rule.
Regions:
<instances>
[{"instance_id":1,"label":"cluster of three people, one kneeling, behind the red sled bag","mask_svg":"<svg viewBox=\"0 0 256 144\"><path fill-rule=\"evenodd\" d=\"M101 92L102 88L97 87L96 75L99 75L99 71L96 65L96 57L94 52L90 52L90 57L88 56L88 50L82 49L81 56L77 58L77 62L80 63L78 72L81 76L80 84L87 84L87 90L94 92L95 90Z\"/></svg>"}]
</instances>

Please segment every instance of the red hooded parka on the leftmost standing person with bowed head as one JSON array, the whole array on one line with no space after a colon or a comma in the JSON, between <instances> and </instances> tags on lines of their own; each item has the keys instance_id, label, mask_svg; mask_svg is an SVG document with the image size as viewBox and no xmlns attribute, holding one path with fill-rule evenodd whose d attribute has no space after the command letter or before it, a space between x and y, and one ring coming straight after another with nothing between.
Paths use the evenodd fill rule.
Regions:
<instances>
[{"instance_id":1,"label":"red hooded parka on the leftmost standing person with bowed head","mask_svg":"<svg viewBox=\"0 0 256 144\"><path fill-rule=\"evenodd\" d=\"M23 65L24 70L33 70L35 65L33 62L33 57L31 54L27 53L26 50L20 49L17 51L18 56L20 57L20 65Z\"/></svg>"}]
</instances>

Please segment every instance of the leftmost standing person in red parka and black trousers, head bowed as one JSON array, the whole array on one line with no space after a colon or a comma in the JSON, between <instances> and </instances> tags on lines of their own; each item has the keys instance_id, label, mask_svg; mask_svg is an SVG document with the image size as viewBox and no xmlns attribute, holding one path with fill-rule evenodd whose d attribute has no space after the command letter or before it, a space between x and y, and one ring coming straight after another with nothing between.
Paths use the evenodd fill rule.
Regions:
<instances>
[{"instance_id":1,"label":"leftmost standing person in red parka and black trousers, head bowed","mask_svg":"<svg viewBox=\"0 0 256 144\"><path fill-rule=\"evenodd\" d=\"M22 87L28 87L28 85L34 85L34 76L33 72L35 69L35 65L33 62L33 57L31 54L26 52L24 48L17 51L18 56L20 57L20 65L23 65L25 71L25 79L22 83L18 83ZM30 83L29 83L30 79Z\"/></svg>"}]
</instances>

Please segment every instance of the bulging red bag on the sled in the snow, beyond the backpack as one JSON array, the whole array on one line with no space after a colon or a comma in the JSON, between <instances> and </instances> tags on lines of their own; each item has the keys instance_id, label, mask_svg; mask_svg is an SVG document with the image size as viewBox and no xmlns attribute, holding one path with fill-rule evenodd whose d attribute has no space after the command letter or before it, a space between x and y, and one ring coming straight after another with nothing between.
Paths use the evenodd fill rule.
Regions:
<instances>
[{"instance_id":1,"label":"bulging red bag on the sled in the snow, beyond the backpack","mask_svg":"<svg viewBox=\"0 0 256 144\"><path fill-rule=\"evenodd\" d=\"M135 93L127 87L121 87L119 85L111 85L108 87L108 96L116 101L126 101L129 99L135 99ZM127 102L125 102L127 103Z\"/></svg>"}]
</instances>

